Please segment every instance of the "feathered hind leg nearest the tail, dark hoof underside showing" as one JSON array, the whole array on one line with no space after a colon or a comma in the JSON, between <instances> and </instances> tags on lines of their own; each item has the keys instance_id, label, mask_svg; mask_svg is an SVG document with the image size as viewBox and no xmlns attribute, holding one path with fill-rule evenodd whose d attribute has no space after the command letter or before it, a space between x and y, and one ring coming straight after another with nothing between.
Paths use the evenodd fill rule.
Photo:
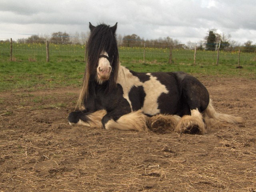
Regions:
<instances>
[{"instance_id":1,"label":"feathered hind leg nearest the tail, dark hoof underside showing","mask_svg":"<svg viewBox=\"0 0 256 192\"><path fill-rule=\"evenodd\" d=\"M191 116L183 116L176 126L175 131L178 133L188 134L206 134L206 128L202 114L197 108L191 110Z\"/></svg>"}]
</instances>

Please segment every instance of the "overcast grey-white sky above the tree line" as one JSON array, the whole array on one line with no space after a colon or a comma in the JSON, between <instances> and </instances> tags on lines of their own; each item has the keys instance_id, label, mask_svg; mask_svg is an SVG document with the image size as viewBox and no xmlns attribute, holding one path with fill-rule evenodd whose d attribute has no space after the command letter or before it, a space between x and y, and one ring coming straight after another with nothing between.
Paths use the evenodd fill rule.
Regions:
<instances>
[{"instance_id":1,"label":"overcast grey-white sky above the tree line","mask_svg":"<svg viewBox=\"0 0 256 192\"><path fill-rule=\"evenodd\" d=\"M198 42L215 28L256 44L256 0L0 0L0 39L88 32L89 22L145 40Z\"/></svg>"}]
</instances>

